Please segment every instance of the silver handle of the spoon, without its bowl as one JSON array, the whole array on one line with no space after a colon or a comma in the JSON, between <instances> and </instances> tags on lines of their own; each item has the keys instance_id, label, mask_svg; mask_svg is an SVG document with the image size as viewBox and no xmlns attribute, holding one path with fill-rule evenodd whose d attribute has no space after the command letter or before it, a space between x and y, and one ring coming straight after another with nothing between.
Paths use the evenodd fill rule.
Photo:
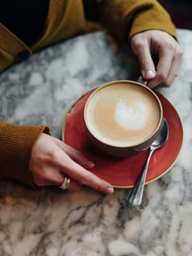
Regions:
<instances>
[{"instance_id":1,"label":"silver handle of the spoon, without its bowl","mask_svg":"<svg viewBox=\"0 0 192 256\"><path fill-rule=\"evenodd\" d=\"M154 152L154 148L150 147L148 151L148 157L145 161L145 164L141 170L141 173L136 181L136 184L134 185L134 188L131 191L131 194L129 195L127 199L127 205L140 205L141 199L143 196L143 188L145 185L145 178L147 175L147 169L148 169L148 163L150 161L150 157L152 156L152 153Z\"/></svg>"}]
</instances>

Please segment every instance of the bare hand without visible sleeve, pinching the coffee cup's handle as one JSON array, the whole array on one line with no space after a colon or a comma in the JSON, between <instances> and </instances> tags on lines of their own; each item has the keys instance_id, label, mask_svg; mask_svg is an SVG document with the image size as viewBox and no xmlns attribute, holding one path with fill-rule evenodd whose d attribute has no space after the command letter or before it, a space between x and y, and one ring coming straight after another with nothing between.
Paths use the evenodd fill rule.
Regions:
<instances>
[{"instance_id":1,"label":"bare hand without visible sleeve, pinching the coffee cup's handle","mask_svg":"<svg viewBox=\"0 0 192 256\"><path fill-rule=\"evenodd\" d=\"M132 36L131 47L140 61L141 75L150 80L148 87L171 86L182 60L182 48L173 36L160 30L147 30ZM156 67L152 56L159 59Z\"/></svg>"}]
</instances>

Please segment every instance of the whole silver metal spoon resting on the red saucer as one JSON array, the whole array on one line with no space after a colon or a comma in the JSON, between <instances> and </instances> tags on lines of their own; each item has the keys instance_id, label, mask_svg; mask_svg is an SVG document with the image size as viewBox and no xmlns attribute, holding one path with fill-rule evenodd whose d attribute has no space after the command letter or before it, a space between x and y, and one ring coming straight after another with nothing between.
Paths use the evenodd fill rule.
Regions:
<instances>
[{"instance_id":1,"label":"whole silver metal spoon resting on the red saucer","mask_svg":"<svg viewBox=\"0 0 192 256\"><path fill-rule=\"evenodd\" d=\"M159 134L156 140L154 140L154 142L152 143L152 145L150 145L147 160L145 161L145 164L141 170L140 176L138 177L138 180L136 181L136 184L134 185L134 188L132 189L131 194L127 199L127 202L126 202L127 205L135 206L135 205L141 204L141 199L143 196L143 188L145 185L145 178L147 175L147 169L148 169L148 163L150 161L150 157L152 156L152 153L154 152L154 150L162 147L164 143L166 143L168 139L168 134L169 134L168 123L163 118Z\"/></svg>"}]
</instances>

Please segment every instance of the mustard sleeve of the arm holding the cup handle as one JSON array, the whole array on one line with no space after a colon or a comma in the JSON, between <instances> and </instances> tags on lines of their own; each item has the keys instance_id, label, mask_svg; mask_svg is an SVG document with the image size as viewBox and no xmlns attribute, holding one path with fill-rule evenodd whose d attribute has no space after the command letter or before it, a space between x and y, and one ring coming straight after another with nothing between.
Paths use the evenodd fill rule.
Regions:
<instances>
[{"instance_id":1,"label":"mustard sleeve of the arm holding the cup handle","mask_svg":"<svg viewBox=\"0 0 192 256\"><path fill-rule=\"evenodd\" d=\"M91 10L88 17L102 23L122 41L148 29L177 36L170 15L156 0L84 0L84 3L86 10Z\"/></svg>"}]
</instances>

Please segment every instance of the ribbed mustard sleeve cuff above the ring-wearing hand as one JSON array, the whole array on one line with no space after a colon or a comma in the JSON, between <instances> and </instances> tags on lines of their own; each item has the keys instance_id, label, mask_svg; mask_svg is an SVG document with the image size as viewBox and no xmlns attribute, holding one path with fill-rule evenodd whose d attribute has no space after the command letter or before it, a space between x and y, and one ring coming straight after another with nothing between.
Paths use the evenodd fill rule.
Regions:
<instances>
[{"instance_id":1,"label":"ribbed mustard sleeve cuff above the ring-wearing hand","mask_svg":"<svg viewBox=\"0 0 192 256\"><path fill-rule=\"evenodd\" d=\"M17 179L34 186L31 152L40 134L50 134L44 125L13 125L0 122L0 177Z\"/></svg>"}]
</instances>

